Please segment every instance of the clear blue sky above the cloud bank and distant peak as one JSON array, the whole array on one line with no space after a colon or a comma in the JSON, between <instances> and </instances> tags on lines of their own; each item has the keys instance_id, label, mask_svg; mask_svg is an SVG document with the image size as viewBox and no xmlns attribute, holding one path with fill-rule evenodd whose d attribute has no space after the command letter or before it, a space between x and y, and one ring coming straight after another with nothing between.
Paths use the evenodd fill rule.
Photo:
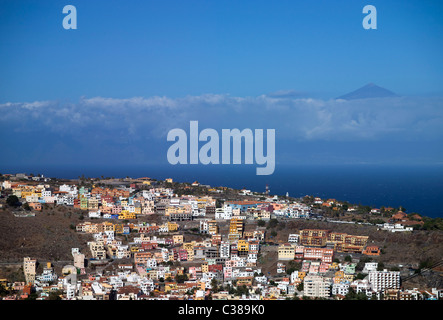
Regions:
<instances>
[{"instance_id":1,"label":"clear blue sky above the cloud bank and distant peak","mask_svg":"<svg viewBox=\"0 0 443 320\"><path fill-rule=\"evenodd\" d=\"M441 1L1 1L0 99L441 94L442 16Z\"/></svg>"}]
</instances>

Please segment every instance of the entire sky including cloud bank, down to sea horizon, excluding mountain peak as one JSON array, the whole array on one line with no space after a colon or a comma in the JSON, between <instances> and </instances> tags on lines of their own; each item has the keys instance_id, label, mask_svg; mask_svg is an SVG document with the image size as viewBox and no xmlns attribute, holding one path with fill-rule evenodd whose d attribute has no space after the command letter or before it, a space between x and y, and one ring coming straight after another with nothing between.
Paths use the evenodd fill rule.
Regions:
<instances>
[{"instance_id":1,"label":"entire sky including cloud bank, down to sea horizon, excluding mountain peak","mask_svg":"<svg viewBox=\"0 0 443 320\"><path fill-rule=\"evenodd\" d=\"M164 163L190 120L278 127L286 163L441 164L442 16L441 1L2 0L0 164ZM402 97L331 100L370 82Z\"/></svg>"}]
</instances>

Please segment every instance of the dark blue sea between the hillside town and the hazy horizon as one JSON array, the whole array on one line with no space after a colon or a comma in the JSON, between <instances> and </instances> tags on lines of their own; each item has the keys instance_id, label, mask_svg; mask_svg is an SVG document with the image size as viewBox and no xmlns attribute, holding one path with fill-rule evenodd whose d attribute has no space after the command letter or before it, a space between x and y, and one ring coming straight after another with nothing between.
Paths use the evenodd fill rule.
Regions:
<instances>
[{"instance_id":1,"label":"dark blue sea between the hillside town and the hazy horizon","mask_svg":"<svg viewBox=\"0 0 443 320\"><path fill-rule=\"evenodd\" d=\"M443 217L443 166L276 165L274 174L257 176L255 165L156 165L156 166L2 166L1 173L40 173L47 177L154 179L173 178L211 186L246 188L291 197L305 195L334 198L372 207L399 207L407 213Z\"/></svg>"}]
</instances>

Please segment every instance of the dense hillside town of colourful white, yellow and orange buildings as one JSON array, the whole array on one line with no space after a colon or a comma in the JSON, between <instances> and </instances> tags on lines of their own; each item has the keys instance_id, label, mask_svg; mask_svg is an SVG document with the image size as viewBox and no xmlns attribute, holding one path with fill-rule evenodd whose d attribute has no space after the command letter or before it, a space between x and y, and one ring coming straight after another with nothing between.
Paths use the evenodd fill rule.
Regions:
<instances>
[{"instance_id":1,"label":"dense hillside town of colourful white, yellow and orange buildings","mask_svg":"<svg viewBox=\"0 0 443 320\"><path fill-rule=\"evenodd\" d=\"M3 178L1 205L20 207L14 211L17 219L33 219L48 205L73 209L81 219L72 229L87 239L86 246L71 248L72 260L58 272L56 261L23 257L24 281L0 279L3 300L443 298L443 288L404 288L398 268L377 262L383 248L370 234L303 228L285 241L275 240L270 226L323 219L314 208L343 205L334 199L304 201L245 189L230 199L232 190L228 195L226 187L197 181L180 184L179 194L173 179L104 184L100 179ZM205 192L186 194L193 188ZM377 225L377 232L413 233L413 226L422 223L398 210Z\"/></svg>"}]
</instances>

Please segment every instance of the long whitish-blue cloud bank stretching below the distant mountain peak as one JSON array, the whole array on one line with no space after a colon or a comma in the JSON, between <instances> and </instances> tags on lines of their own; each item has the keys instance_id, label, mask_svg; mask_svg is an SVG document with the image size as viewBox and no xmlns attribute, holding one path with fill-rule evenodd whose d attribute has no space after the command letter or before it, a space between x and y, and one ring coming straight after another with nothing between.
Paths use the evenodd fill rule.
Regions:
<instances>
[{"instance_id":1,"label":"long whitish-blue cloud bank stretching below the distant mountain peak","mask_svg":"<svg viewBox=\"0 0 443 320\"><path fill-rule=\"evenodd\" d=\"M321 100L296 95L233 97L205 94L181 98L106 97L78 102L34 101L0 104L1 132L45 131L79 139L110 135L166 139L173 128L276 129L277 140L441 140L443 98L394 97Z\"/></svg>"}]
</instances>

